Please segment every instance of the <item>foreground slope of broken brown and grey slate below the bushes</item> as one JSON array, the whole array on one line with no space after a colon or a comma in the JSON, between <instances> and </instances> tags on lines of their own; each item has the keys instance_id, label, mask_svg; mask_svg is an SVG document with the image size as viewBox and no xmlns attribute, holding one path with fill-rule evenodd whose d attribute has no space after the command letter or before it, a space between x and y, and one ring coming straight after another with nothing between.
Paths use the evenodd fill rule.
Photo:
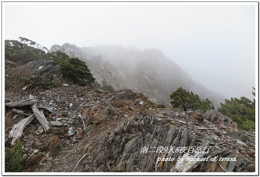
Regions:
<instances>
[{"instance_id":1,"label":"foreground slope of broken brown and grey slate below the bushes","mask_svg":"<svg viewBox=\"0 0 260 177\"><path fill-rule=\"evenodd\" d=\"M26 91L26 90L25 90ZM27 99L28 92L6 92L5 103ZM255 134L237 130L236 125L212 112L182 112L157 109L148 97L129 89L101 93L94 86L71 85L39 92L37 105L52 125L44 133L37 120L23 131L23 171L34 172L253 172L255 171ZM5 146L14 124L32 114L5 110ZM213 111L214 112L214 111ZM218 113L217 113L218 114ZM86 130L82 120L83 117ZM210 122L212 121L212 122ZM229 122L226 124L225 122ZM224 125L225 124L225 125ZM210 146L208 153L146 152L160 147ZM152 147L156 147L152 149ZM81 157L85 158L76 166ZM165 155L174 161L159 161ZM234 162L177 162L178 157L226 157ZM224 168L224 170L222 169Z\"/></svg>"}]
</instances>

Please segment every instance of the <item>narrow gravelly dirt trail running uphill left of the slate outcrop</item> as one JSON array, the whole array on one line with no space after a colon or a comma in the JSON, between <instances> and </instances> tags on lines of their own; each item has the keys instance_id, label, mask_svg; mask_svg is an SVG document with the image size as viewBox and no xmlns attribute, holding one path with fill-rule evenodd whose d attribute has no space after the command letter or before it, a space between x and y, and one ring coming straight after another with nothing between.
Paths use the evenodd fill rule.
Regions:
<instances>
[{"instance_id":1,"label":"narrow gravelly dirt trail running uphill left of the slate outcrop","mask_svg":"<svg viewBox=\"0 0 260 177\"><path fill-rule=\"evenodd\" d=\"M89 137L83 136L73 144L69 140L59 140L60 144L51 156L51 160L46 161L44 167L39 167L35 169L34 172L100 172L99 169L93 166L93 163L95 160L99 160L104 154L102 147L104 147L105 144L105 136L107 133L114 131L118 126L122 126L124 119L117 117L111 121L110 123L108 123L108 121L101 121L96 127L89 126L92 130L90 131ZM88 144L91 140L96 142L96 146L74 170L77 162L83 156L81 150L84 145ZM98 150L99 147L101 148ZM99 151L99 153L96 153L97 151ZM88 165L87 169L85 169L86 164Z\"/></svg>"}]
</instances>

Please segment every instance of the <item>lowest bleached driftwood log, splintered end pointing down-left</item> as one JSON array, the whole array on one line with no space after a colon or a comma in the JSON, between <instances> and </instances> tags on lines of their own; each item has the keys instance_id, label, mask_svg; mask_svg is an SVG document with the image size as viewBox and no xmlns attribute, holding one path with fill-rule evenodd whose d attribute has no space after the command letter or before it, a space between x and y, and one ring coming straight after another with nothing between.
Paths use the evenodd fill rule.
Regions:
<instances>
[{"instance_id":1,"label":"lowest bleached driftwood log, splintered end pointing down-left","mask_svg":"<svg viewBox=\"0 0 260 177\"><path fill-rule=\"evenodd\" d=\"M11 142L11 146L15 145L18 139L22 137L23 129L29 125L29 123L34 119L34 114L30 115L29 117L22 119L19 121L13 129L10 131L9 138L13 138Z\"/></svg>"}]
</instances>

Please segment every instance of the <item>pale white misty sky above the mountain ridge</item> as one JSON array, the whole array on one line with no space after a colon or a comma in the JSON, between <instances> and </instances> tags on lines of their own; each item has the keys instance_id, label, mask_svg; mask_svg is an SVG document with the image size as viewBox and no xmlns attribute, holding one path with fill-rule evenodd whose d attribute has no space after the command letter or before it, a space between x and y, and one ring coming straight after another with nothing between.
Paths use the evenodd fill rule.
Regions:
<instances>
[{"instance_id":1,"label":"pale white misty sky above the mountain ridge","mask_svg":"<svg viewBox=\"0 0 260 177\"><path fill-rule=\"evenodd\" d=\"M254 98L255 5L5 5L4 14L4 39L158 48L208 89Z\"/></svg>"}]
</instances>

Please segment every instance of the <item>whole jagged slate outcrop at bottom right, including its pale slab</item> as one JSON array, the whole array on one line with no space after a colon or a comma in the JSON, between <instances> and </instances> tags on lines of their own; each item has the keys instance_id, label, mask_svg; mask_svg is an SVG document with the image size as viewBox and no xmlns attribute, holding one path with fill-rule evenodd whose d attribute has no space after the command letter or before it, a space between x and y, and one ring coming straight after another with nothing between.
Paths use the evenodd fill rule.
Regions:
<instances>
[{"instance_id":1,"label":"whole jagged slate outcrop at bottom right, including its pale slab","mask_svg":"<svg viewBox=\"0 0 260 177\"><path fill-rule=\"evenodd\" d=\"M154 124L151 123L153 121ZM255 164L238 158L238 155L229 148L212 147L211 144L215 144L212 142L213 139L214 136L207 135L198 144L196 137L185 127L162 124L158 120L151 119L150 115L133 115L122 127L106 137L105 156L100 161L96 161L96 167L106 172L112 169L116 169L117 172L223 172L223 169L226 169L226 172L238 170L252 172L255 170ZM162 147L160 151L158 147ZM174 147L174 151L169 150L168 147ZM211 148L208 152L188 153L188 150L181 152L177 147ZM179 157L204 158L204 161L177 161ZM238 159L219 161L220 157ZM174 160L158 161L159 158L174 158ZM216 160L211 161L211 158Z\"/></svg>"}]
</instances>

